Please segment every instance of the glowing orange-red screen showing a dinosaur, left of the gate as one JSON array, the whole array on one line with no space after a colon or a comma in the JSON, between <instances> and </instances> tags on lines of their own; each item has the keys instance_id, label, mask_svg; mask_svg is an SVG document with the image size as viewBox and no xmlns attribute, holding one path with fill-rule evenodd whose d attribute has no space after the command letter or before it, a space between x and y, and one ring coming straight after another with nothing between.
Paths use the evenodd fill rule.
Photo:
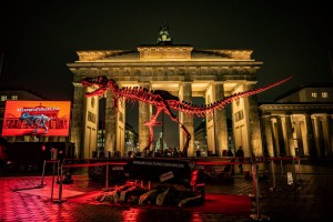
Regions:
<instances>
[{"instance_id":1,"label":"glowing orange-red screen showing a dinosaur, left of the gate","mask_svg":"<svg viewBox=\"0 0 333 222\"><path fill-rule=\"evenodd\" d=\"M7 100L2 137L69 135L70 101Z\"/></svg>"}]
</instances>

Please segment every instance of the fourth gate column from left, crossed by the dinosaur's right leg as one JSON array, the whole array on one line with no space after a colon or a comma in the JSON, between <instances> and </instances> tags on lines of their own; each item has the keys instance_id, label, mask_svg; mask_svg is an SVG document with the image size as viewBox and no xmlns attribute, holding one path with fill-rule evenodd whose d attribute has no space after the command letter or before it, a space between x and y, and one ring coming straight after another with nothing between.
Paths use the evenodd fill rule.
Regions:
<instances>
[{"instance_id":1,"label":"fourth gate column from left, crossed by the dinosaur's right leg","mask_svg":"<svg viewBox=\"0 0 333 222\"><path fill-rule=\"evenodd\" d=\"M192 103L192 83L191 82L182 82L180 85L179 98L181 101ZM180 112L180 122L186 128L189 133L191 134L191 141L189 143L188 155L194 157L194 129L193 129L193 117L186 117L185 113ZM184 144L186 142L186 138L184 138L184 132L180 130L180 150L183 150Z\"/></svg>"}]
</instances>

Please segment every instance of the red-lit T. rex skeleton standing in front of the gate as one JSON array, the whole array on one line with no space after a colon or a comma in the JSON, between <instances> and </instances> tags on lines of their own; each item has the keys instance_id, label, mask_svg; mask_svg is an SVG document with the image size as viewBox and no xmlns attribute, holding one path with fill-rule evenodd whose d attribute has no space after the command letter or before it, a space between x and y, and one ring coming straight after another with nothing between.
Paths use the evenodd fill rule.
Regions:
<instances>
[{"instance_id":1,"label":"red-lit T. rex skeleton standing in front of the gate","mask_svg":"<svg viewBox=\"0 0 333 222\"><path fill-rule=\"evenodd\" d=\"M182 129L182 131L185 133L186 142L184 144L182 153L184 157L186 157L189 142L191 140L191 134L189 133L186 128L179 121L178 117L172 112L172 110L184 112L186 114L192 114L196 117L205 117L208 113L212 112L215 109L223 109L228 103L234 100L266 91L271 88L278 87L289 81L291 78L292 77L289 77L275 83L269 84L266 87L262 87L262 88L258 88L244 92L239 92L236 94L232 94L230 97L225 97L221 100L218 100L214 103L205 104L205 105L196 105L185 101L180 101L178 97L172 95L170 92L164 90L148 90L141 87L122 88L118 84L118 82L114 79L108 79L107 77L103 75L97 78L84 78L82 79L81 83L84 87L97 87L97 89L93 90L92 92L87 92L85 97L102 95L108 90L111 90L114 94L113 102L114 102L115 110L118 109L119 99L141 101L141 102L152 104L157 108L157 111L152 115L150 121L144 123L144 125L149 127L149 132L150 132L149 144L143 149L144 151L148 151L150 149L150 145L153 142L153 127L162 124L161 122L157 121L159 114L162 111L167 113L171 118L171 120L176 122Z\"/></svg>"}]
</instances>

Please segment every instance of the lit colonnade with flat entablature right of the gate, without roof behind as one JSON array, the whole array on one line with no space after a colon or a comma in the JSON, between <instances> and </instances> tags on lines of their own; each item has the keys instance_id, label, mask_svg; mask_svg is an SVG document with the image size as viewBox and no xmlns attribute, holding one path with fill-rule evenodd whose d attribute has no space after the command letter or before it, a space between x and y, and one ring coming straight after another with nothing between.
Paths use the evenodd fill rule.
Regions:
<instances>
[{"instance_id":1,"label":"lit colonnade with flat entablature right of the gate, without roof behind","mask_svg":"<svg viewBox=\"0 0 333 222\"><path fill-rule=\"evenodd\" d=\"M333 104L261 104L268 157L333 157Z\"/></svg>"}]
</instances>

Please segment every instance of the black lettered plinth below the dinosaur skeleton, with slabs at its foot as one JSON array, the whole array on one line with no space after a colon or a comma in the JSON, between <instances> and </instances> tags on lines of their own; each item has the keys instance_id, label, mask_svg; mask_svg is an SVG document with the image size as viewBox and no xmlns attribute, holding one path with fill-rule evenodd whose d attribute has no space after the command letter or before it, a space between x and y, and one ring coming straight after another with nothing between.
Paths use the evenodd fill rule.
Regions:
<instances>
[{"instance_id":1,"label":"black lettered plinth below the dinosaur skeleton, with slabs at its foot","mask_svg":"<svg viewBox=\"0 0 333 222\"><path fill-rule=\"evenodd\" d=\"M178 205L182 201L183 206L204 202L205 173L189 160L138 158L124 165L124 171L130 180L158 184L140 195L139 205Z\"/></svg>"}]
</instances>

